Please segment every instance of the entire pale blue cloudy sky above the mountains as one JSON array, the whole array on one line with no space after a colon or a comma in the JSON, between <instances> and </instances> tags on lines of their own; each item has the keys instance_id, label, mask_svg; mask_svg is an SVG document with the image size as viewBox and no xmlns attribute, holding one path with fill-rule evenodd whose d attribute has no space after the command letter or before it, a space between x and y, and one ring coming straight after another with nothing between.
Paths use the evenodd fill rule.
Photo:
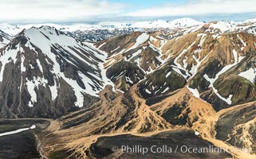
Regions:
<instances>
[{"instance_id":1,"label":"entire pale blue cloudy sky above the mountains","mask_svg":"<svg viewBox=\"0 0 256 159\"><path fill-rule=\"evenodd\" d=\"M192 17L241 21L256 17L255 0L0 0L0 23L99 23Z\"/></svg>"}]
</instances>

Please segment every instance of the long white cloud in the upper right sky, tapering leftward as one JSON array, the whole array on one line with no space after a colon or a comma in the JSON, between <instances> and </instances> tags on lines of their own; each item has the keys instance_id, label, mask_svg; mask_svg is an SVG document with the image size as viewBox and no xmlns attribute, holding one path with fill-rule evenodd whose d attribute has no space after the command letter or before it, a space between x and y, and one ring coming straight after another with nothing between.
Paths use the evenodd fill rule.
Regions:
<instances>
[{"instance_id":1,"label":"long white cloud in the upper right sky, tapering leftward","mask_svg":"<svg viewBox=\"0 0 256 159\"><path fill-rule=\"evenodd\" d=\"M189 0L186 4L167 4L127 14L132 17L196 16L207 14L255 13L255 0Z\"/></svg>"}]
</instances>

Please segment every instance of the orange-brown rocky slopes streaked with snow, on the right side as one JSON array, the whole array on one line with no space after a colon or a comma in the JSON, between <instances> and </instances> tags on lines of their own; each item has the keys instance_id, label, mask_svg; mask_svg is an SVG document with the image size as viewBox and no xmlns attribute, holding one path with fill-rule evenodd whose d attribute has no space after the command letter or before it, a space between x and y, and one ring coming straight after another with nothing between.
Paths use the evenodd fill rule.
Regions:
<instances>
[{"instance_id":1,"label":"orange-brown rocky slopes streaked with snow, on the right side","mask_svg":"<svg viewBox=\"0 0 256 159\"><path fill-rule=\"evenodd\" d=\"M219 111L254 100L255 95L254 26L224 26L229 27L222 21L195 26L178 37L172 34L170 40L159 37L160 33L136 32L102 41L96 47L108 52L108 69L127 61L144 70L145 79L139 84L144 98L187 85Z\"/></svg>"}]
</instances>

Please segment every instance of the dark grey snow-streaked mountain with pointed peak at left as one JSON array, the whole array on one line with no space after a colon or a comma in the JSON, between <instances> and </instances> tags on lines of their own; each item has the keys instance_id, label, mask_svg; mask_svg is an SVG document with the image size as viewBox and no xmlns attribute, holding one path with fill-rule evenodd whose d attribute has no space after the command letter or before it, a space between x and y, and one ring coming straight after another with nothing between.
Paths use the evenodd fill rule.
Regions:
<instances>
[{"instance_id":1,"label":"dark grey snow-streaked mountain with pointed peak at left","mask_svg":"<svg viewBox=\"0 0 256 159\"><path fill-rule=\"evenodd\" d=\"M48 26L23 30L0 61L2 118L57 118L94 103L108 83L102 53Z\"/></svg>"}]
</instances>

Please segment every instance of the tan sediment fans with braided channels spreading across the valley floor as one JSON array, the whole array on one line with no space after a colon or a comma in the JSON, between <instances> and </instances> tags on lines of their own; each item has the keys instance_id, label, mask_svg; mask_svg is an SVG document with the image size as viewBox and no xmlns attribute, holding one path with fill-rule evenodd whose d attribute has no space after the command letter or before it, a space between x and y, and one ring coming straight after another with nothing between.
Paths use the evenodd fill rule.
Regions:
<instances>
[{"instance_id":1,"label":"tan sediment fans with braided channels spreading across the valley floor","mask_svg":"<svg viewBox=\"0 0 256 159\"><path fill-rule=\"evenodd\" d=\"M132 119L126 113L125 106L120 104L122 95L117 93L114 97L115 95L112 95L109 90L111 89L100 92L101 101L93 107L51 121L51 125L39 137L45 156L49 158L141 158L144 157L141 153L122 153L116 149L112 150L112 147L115 145L120 149L122 145L144 145L149 149L151 145L163 144L170 145L172 149L175 146L180 148L182 145L195 148L212 145L214 148L219 147L217 149L226 149L228 153L158 153L157 157L256 158L253 152L244 152L239 150L239 146L216 138L216 134L226 131L223 127L216 129L217 122L223 114L249 107L253 103L215 112L209 103L191 95L190 98L184 99L187 100L190 109L187 118L191 120L200 114L198 120L191 125L173 126L156 112L168 109L170 104L168 102L175 103L180 100L180 96L189 95L187 88L179 90L175 95L171 94L170 97L163 99L161 104L157 103L149 107L136 91L136 86L132 87L130 94L127 94L135 99L132 101L135 101L136 107L133 110L131 106L129 108L132 110L128 111L132 112ZM108 99L110 97L111 99ZM183 112L179 115L187 115ZM156 158L156 153L145 155L147 158Z\"/></svg>"}]
</instances>

